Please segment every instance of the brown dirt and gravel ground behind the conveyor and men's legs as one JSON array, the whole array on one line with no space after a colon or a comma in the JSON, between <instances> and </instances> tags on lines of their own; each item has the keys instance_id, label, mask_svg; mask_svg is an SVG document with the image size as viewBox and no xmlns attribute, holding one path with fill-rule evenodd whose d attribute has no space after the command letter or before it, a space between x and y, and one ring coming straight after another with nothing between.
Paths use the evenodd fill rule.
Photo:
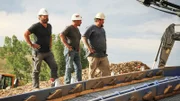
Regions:
<instances>
[{"instance_id":1,"label":"brown dirt and gravel ground behind the conveyor and men's legs","mask_svg":"<svg viewBox=\"0 0 180 101\"><path fill-rule=\"evenodd\" d=\"M146 69L150 69L150 68L146 64L142 63L141 61L131 61L131 62L118 63L118 64L114 64L114 63L110 64L111 75L118 75L118 74L133 72L133 71L143 71ZM97 70L96 77L100 77L101 76L100 74L101 72ZM83 80L88 79L88 68L82 71L82 78ZM63 81L64 81L63 77L60 77L59 79L61 83L63 84ZM50 86L51 86L50 81L40 82L40 89L49 88ZM24 86L19 86L17 88L3 89L3 90L0 90L0 98L23 94L23 93L31 92L33 90L34 89L32 88L32 83L28 83Z\"/></svg>"}]
</instances>

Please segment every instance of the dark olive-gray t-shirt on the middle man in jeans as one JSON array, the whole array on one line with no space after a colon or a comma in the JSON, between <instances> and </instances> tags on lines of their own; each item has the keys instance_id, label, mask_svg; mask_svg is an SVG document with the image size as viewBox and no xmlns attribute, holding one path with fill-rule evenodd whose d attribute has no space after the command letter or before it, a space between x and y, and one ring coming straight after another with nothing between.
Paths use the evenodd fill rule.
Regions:
<instances>
[{"instance_id":1,"label":"dark olive-gray t-shirt on the middle man in jeans","mask_svg":"<svg viewBox=\"0 0 180 101\"><path fill-rule=\"evenodd\" d=\"M78 28L73 25L67 26L61 34L65 36L67 43L72 46L73 50L79 51L81 34Z\"/></svg>"}]
</instances>

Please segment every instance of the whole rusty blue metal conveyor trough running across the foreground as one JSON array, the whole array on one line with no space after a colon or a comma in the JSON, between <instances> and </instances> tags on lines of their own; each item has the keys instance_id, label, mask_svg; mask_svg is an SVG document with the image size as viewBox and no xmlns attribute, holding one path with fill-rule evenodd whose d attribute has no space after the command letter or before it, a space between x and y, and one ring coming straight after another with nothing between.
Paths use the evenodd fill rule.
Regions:
<instances>
[{"instance_id":1,"label":"whole rusty blue metal conveyor trough running across the foreground","mask_svg":"<svg viewBox=\"0 0 180 101\"><path fill-rule=\"evenodd\" d=\"M42 89L15 96L0 98L0 101L117 101L124 99L155 99L180 93L180 66L138 71L127 74L101 77L69 85ZM164 79L165 77L170 79ZM161 79L160 79L161 78ZM163 80L164 79L164 80ZM141 82L141 83L140 83ZM170 94L170 95L172 95ZM150 98L149 98L150 97ZM72 99L72 100L70 100ZM134 100L133 100L134 101Z\"/></svg>"}]
</instances>

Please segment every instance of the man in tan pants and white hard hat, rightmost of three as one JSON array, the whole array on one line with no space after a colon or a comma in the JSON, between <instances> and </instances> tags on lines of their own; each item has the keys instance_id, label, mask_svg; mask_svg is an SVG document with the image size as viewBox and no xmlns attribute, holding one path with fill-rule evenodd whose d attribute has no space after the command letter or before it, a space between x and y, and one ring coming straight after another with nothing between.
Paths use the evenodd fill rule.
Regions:
<instances>
[{"instance_id":1,"label":"man in tan pants and white hard hat, rightmost of three","mask_svg":"<svg viewBox=\"0 0 180 101\"><path fill-rule=\"evenodd\" d=\"M109 76L109 61L106 53L106 33L103 28L105 15L97 13L94 21L82 36L87 48L87 59L89 62L89 79L95 77L96 69L101 71L101 76Z\"/></svg>"}]
</instances>

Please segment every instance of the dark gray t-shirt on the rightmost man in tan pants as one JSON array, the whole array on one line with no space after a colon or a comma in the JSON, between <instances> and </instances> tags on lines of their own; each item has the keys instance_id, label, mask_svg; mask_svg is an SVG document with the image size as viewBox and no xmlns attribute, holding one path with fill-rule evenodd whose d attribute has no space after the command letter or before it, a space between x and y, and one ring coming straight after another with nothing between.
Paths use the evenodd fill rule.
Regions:
<instances>
[{"instance_id":1,"label":"dark gray t-shirt on the rightmost man in tan pants","mask_svg":"<svg viewBox=\"0 0 180 101\"><path fill-rule=\"evenodd\" d=\"M89 41L90 46L95 50L93 54L87 54L93 57L105 57L106 54L106 33L103 27L91 25L83 34Z\"/></svg>"}]
</instances>

